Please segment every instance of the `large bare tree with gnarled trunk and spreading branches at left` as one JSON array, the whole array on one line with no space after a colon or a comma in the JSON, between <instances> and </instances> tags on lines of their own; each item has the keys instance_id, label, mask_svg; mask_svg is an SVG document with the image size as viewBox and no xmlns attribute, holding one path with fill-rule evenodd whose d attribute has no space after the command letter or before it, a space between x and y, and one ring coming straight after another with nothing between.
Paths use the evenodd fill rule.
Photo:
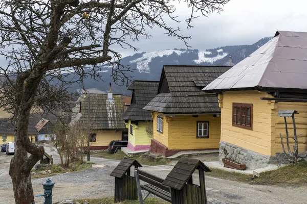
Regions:
<instances>
[{"instance_id":1,"label":"large bare tree with gnarled trunk and spreading branches at left","mask_svg":"<svg viewBox=\"0 0 307 204\"><path fill-rule=\"evenodd\" d=\"M129 67L112 47L137 49L132 43L159 27L184 43L190 38L172 28L174 0L3 0L0 2L0 107L14 113L16 152L10 176L16 203L34 203L30 170L43 147L28 138L31 108L61 112L68 108L68 87L84 78L101 78L102 65L112 68L116 83L125 83ZM179 0L190 11L187 28L200 15L220 11L229 0ZM129 39L130 42L126 41ZM73 74L72 80L68 76ZM77 77L76 77L77 76ZM30 153L30 157L27 157Z\"/></svg>"}]
</instances>

